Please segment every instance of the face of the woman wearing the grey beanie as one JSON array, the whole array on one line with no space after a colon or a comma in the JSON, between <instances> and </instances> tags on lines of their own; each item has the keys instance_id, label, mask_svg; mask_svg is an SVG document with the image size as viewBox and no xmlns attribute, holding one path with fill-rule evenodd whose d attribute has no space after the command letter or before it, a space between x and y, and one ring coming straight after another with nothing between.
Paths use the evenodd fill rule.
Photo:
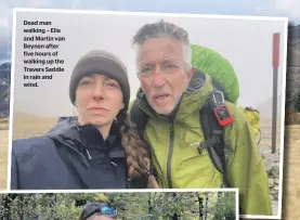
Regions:
<instances>
[{"instance_id":1,"label":"face of the woman wearing the grey beanie","mask_svg":"<svg viewBox=\"0 0 300 220\"><path fill-rule=\"evenodd\" d=\"M105 75L83 77L76 89L75 104L81 125L112 125L123 108L122 91L119 83Z\"/></svg>"}]
</instances>

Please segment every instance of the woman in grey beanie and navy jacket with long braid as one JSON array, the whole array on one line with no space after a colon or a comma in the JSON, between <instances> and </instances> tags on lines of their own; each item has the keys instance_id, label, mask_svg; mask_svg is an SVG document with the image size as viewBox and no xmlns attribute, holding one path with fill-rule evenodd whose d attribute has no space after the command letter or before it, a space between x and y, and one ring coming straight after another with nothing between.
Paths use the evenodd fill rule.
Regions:
<instances>
[{"instance_id":1,"label":"woman in grey beanie and navy jacket with long braid","mask_svg":"<svg viewBox=\"0 0 300 220\"><path fill-rule=\"evenodd\" d=\"M91 51L74 68L69 98L78 117L61 118L42 137L13 141L11 189L156 187L146 147L128 119L125 65Z\"/></svg>"}]
</instances>

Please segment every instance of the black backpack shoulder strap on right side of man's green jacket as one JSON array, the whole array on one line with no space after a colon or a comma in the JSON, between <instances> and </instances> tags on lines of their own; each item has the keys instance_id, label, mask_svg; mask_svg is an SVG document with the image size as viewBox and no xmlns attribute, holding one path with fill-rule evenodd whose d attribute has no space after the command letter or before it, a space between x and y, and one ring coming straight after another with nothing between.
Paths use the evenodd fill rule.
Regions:
<instances>
[{"instance_id":1,"label":"black backpack shoulder strap on right side of man's green jacket","mask_svg":"<svg viewBox=\"0 0 300 220\"><path fill-rule=\"evenodd\" d=\"M226 174L224 128L220 126L209 104L200 109L200 124L206 141L200 144L199 153L201 154L204 148L208 150L214 167L223 174L223 187L230 187Z\"/></svg>"}]
</instances>

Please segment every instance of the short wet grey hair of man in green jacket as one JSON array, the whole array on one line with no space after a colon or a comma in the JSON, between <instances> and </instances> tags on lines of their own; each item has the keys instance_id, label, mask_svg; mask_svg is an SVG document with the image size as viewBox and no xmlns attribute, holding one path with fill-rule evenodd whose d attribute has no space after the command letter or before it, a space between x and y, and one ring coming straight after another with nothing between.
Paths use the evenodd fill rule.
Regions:
<instances>
[{"instance_id":1,"label":"short wet grey hair of man in green jacket","mask_svg":"<svg viewBox=\"0 0 300 220\"><path fill-rule=\"evenodd\" d=\"M183 28L160 20L159 22L145 24L142 26L132 38L132 46L136 49L142 46L146 40L169 37L182 41L184 51L184 61L188 69L192 67L192 50L190 46L188 34Z\"/></svg>"}]
</instances>

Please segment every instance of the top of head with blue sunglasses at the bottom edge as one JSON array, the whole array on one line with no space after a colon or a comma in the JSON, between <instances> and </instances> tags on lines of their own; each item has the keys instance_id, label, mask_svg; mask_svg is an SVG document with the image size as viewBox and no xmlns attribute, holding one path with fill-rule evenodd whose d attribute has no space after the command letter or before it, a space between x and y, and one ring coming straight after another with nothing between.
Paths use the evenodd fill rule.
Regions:
<instances>
[{"instance_id":1,"label":"top of head with blue sunglasses at the bottom edge","mask_svg":"<svg viewBox=\"0 0 300 220\"><path fill-rule=\"evenodd\" d=\"M114 208L106 204L89 203L80 215L79 220L114 220L117 219Z\"/></svg>"}]
</instances>

